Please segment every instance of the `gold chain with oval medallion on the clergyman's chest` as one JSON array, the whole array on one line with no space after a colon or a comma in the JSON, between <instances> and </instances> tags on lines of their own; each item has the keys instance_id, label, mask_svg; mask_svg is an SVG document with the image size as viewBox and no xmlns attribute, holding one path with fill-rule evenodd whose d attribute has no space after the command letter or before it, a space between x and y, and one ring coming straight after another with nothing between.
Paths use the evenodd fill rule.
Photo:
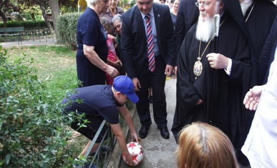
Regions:
<instances>
[{"instance_id":1,"label":"gold chain with oval medallion on the clergyman's chest","mask_svg":"<svg viewBox=\"0 0 277 168\"><path fill-rule=\"evenodd\" d=\"M227 19L227 17L223 20L223 22L219 25L219 27L221 27L221 25L224 23L224 21ZM200 40L199 42L199 50L198 50L198 57L197 57L197 61L195 61L194 65L193 65L193 73L195 74L195 80L197 78L197 76L200 76L200 74L202 73L203 70L203 65L201 63L201 58L204 55L207 47L210 45L211 41L213 38L210 39L210 41L207 43L204 51L202 52L201 56L200 56L200 48L201 48L201 42L202 40Z\"/></svg>"}]
</instances>

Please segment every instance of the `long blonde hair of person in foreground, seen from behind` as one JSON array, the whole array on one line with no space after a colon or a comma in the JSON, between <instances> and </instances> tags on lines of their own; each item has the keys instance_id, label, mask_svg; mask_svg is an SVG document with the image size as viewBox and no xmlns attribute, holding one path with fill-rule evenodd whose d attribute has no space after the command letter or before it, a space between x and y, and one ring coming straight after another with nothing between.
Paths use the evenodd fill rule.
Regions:
<instances>
[{"instance_id":1,"label":"long blonde hair of person in foreground, seen from behind","mask_svg":"<svg viewBox=\"0 0 277 168\"><path fill-rule=\"evenodd\" d=\"M175 152L178 168L238 168L234 147L218 128L206 123L192 123L179 133Z\"/></svg>"}]
</instances>

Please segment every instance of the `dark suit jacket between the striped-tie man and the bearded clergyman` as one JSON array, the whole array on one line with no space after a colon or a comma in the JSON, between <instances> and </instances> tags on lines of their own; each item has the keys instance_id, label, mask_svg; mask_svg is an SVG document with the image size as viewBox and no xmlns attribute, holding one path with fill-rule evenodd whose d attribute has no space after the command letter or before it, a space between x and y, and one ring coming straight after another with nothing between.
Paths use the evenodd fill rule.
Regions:
<instances>
[{"instance_id":1,"label":"dark suit jacket between the striped-tie man and the bearded clergyman","mask_svg":"<svg viewBox=\"0 0 277 168\"><path fill-rule=\"evenodd\" d=\"M197 22L199 11L195 6L197 0L181 0L176 19L176 60L186 32ZM176 63L177 65L177 63Z\"/></svg>"}]
</instances>

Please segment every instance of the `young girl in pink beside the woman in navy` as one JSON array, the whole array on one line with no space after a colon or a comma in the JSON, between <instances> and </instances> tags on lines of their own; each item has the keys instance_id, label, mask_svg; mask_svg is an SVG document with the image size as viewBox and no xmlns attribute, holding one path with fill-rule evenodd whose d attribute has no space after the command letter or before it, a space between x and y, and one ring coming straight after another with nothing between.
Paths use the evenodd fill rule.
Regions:
<instances>
[{"instance_id":1,"label":"young girl in pink beside the woman in navy","mask_svg":"<svg viewBox=\"0 0 277 168\"><path fill-rule=\"evenodd\" d=\"M107 64L119 70L122 67L122 63L115 53L115 47L112 40L113 36L110 35L112 33L113 27L110 24L110 21L106 17L101 17L101 22L104 28L108 32L107 46L109 51L108 51ZM107 85L113 84L113 78L108 73L106 73L106 83Z\"/></svg>"}]
</instances>

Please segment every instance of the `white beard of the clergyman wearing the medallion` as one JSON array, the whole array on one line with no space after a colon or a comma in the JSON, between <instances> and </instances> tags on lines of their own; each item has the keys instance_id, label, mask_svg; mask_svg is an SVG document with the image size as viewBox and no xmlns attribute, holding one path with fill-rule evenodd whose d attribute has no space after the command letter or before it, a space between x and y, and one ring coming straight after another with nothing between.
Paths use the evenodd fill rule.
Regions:
<instances>
[{"instance_id":1,"label":"white beard of the clergyman wearing the medallion","mask_svg":"<svg viewBox=\"0 0 277 168\"><path fill-rule=\"evenodd\" d=\"M206 16L205 21L202 21L202 16L198 17L198 23L196 27L196 39L203 42L208 42L211 38L214 38L214 18Z\"/></svg>"}]
</instances>

